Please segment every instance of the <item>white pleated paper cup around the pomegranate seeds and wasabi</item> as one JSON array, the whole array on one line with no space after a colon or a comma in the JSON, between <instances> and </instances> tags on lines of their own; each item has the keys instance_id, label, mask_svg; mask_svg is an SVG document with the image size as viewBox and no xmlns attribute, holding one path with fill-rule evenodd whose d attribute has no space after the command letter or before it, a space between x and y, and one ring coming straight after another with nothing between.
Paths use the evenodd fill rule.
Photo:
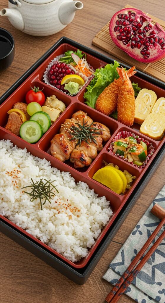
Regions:
<instances>
[{"instance_id":1,"label":"white pleated paper cup around the pomegranate seeds and wasabi","mask_svg":"<svg viewBox=\"0 0 165 303\"><path fill-rule=\"evenodd\" d=\"M50 71L51 67L52 67L54 64L56 64L56 63L62 63L62 62L60 62L59 60L60 60L61 57L64 57L64 56L65 56L65 55L63 54L63 55L60 55L60 56L57 56L56 58L54 58L54 59L49 63L48 67L46 68L46 71L44 72L44 82L45 82L47 85L50 85L51 87L57 89L57 90L60 91L60 92L63 92L63 91L62 91L61 89L56 88L56 87L53 86L52 84L50 84L50 79L49 79L48 75L49 75L49 71ZM89 63L88 63L88 64L89 64ZM79 76L84 80L84 82L85 82L84 85L86 85L86 83L88 82L88 80L92 77L92 75L91 75L90 77L87 77L87 76L83 75L81 72L76 71L76 69L75 69L72 65L70 65L70 64L67 64L67 65L75 72L76 75L79 75ZM89 67L92 68L91 65L89 65ZM92 69L93 69L93 68L92 68ZM93 69L93 72L94 72L94 69ZM75 95L77 95L77 94L82 90L82 88L84 87L84 85L82 85L82 87L79 88L79 91L78 91L76 94L71 95L70 93L68 93L68 94L67 94L66 92L63 92L63 93L66 94L66 95L69 95L69 96L75 96Z\"/></svg>"}]
</instances>

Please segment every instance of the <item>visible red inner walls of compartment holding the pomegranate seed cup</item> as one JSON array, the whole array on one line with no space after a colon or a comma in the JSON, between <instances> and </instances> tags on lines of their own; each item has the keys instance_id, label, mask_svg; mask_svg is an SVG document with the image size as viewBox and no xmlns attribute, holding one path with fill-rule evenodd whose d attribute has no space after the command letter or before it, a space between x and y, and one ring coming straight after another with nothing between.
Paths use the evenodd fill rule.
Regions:
<instances>
[{"instance_id":1,"label":"visible red inner walls of compartment holding the pomegranate seed cup","mask_svg":"<svg viewBox=\"0 0 165 303\"><path fill-rule=\"evenodd\" d=\"M49 65L49 63L53 60L53 58L56 58L57 56L63 55L65 52L68 50L72 50L73 52L77 51L77 48L68 44L68 43L63 43L61 44L44 62L40 67L38 68L38 74L39 74L39 80L43 81L43 75L44 72ZM81 50L81 49L80 49ZM97 69L101 67L104 62L92 55L89 55L86 52L83 52L86 54L86 60L87 62L94 68Z\"/></svg>"}]
</instances>

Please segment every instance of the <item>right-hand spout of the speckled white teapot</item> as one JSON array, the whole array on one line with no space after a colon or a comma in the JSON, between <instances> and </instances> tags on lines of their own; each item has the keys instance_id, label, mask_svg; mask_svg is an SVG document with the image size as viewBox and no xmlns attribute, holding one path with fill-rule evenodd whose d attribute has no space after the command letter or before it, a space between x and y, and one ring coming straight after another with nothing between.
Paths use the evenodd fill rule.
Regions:
<instances>
[{"instance_id":1,"label":"right-hand spout of the speckled white teapot","mask_svg":"<svg viewBox=\"0 0 165 303\"><path fill-rule=\"evenodd\" d=\"M72 22L75 12L83 8L81 1L64 2L59 9L59 18L62 24L67 25Z\"/></svg>"}]
</instances>

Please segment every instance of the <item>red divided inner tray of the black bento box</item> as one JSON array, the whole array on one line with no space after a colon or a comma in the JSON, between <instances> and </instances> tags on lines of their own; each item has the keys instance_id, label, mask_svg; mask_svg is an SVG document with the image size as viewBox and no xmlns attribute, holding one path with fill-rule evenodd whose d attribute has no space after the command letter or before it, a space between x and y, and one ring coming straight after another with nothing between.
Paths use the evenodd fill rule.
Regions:
<instances>
[{"instance_id":1,"label":"red divided inner tray of the black bento box","mask_svg":"<svg viewBox=\"0 0 165 303\"><path fill-rule=\"evenodd\" d=\"M16 224L9 221L7 218L0 216L0 218L4 221L6 221L11 226L15 227L17 230L19 230L24 235L31 238L33 241L36 241L40 246L43 248L46 248L48 251L51 252L51 254L56 255L58 258L61 258L63 261L68 263L74 268L83 268L87 265L90 258L94 254L96 248L98 247L99 243L102 241L103 237L105 236L108 231L110 231L113 222L117 218L118 214L122 211L123 206L128 202L128 199L133 194L133 192L137 189L138 183L145 174L146 170L150 167L152 164L153 159L156 157L156 155L159 153L160 148L165 142L165 137L162 138L159 142L151 140L147 136L144 136L139 133L139 125L133 125L131 128L126 127L125 125L117 122L115 119L105 116L104 114L96 111L93 108L90 108L88 105L84 103L84 92L86 91L86 86L89 82L84 86L84 88L74 97L71 97L69 95L66 95L63 92L58 91L56 88L53 88L43 82L43 75L44 71L47 68L47 65L51 62L51 60L58 56L63 54L68 49L71 49L73 51L76 50L75 47L69 44L62 44L60 45L16 90L13 92L8 99L0 105L0 139L10 139L11 142L13 142L15 145L18 146L18 148L27 148L27 151L30 151L31 154L34 156L40 157L40 158L46 158L48 161L50 161L51 165L53 167L58 168L60 171L69 171L73 178L78 181L84 181L86 182L91 189L94 189L94 191L99 195L107 198L107 200L110 201L110 206L113 210L113 216L110 218L108 224L102 229L101 234L99 237L95 240L95 244L92 246L92 248L89 249L89 253L86 256L86 258L82 258L79 262L73 263L57 253L57 251L50 248L48 245L44 244L34 236L27 233L27 231L23 230L22 228L18 227ZM102 60L95 58L92 55L87 55L87 61L90 65L92 65L95 69L103 67L106 63ZM157 96L165 96L165 91L161 88L158 88L156 85L150 84L149 82L146 82L143 79L140 79L136 75L134 75L132 78L132 82L138 83L138 85L141 88L149 88L152 90L155 90L157 93ZM5 130L4 126L7 122L8 114L7 111L12 108L12 106L16 102L25 102L25 95L26 92L30 89L30 86L39 86L40 88L44 88L43 92L46 94L46 96L50 95L56 95L57 98L61 101L63 101L66 105L66 110L60 115L60 117L57 119L56 122L53 123L53 125L50 127L50 129L44 134L44 136L36 143L36 144L30 144L28 142L25 142L20 137L13 135L11 132ZM94 122L100 122L102 124L105 124L111 132L111 138L108 140L108 142L105 143L103 146L102 151L99 152L98 156L95 158L95 160L92 162L92 164L89 167L83 168L83 169L76 169L73 167L73 165L66 161L65 163L55 159L52 155L50 155L50 141L53 138L55 134L59 132L61 124L65 121L66 118L71 118L74 112L82 110L86 112ZM139 169L131 165L130 163L125 162L124 160L116 157L115 155L111 155L108 152L108 148L110 146L110 143L112 142L115 135L120 132L121 130L127 130L131 131L135 135L139 135L140 137L143 137L144 139L147 139L149 142L151 142L155 148L154 154L151 156L150 160L148 161L147 165L143 169ZM102 167L102 161L106 161L108 163L114 163L115 165L119 166L119 169L122 171L127 170L132 175L136 176L136 179L133 181L133 184L131 188L124 194L124 195L118 195L106 186L98 183L97 181L93 180L92 177L94 173Z\"/></svg>"}]
</instances>

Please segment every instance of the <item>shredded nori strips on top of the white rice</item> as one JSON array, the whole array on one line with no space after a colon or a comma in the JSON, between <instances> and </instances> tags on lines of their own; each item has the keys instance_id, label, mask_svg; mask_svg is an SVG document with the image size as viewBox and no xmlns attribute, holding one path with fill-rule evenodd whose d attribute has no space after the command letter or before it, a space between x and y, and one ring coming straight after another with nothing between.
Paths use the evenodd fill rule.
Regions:
<instances>
[{"instance_id":1,"label":"shredded nori strips on top of the white rice","mask_svg":"<svg viewBox=\"0 0 165 303\"><path fill-rule=\"evenodd\" d=\"M55 180L48 181L48 180L44 179L44 181L46 181L46 182L44 183L43 179L40 179L40 181L35 180L35 183L34 183L33 179L31 178L31 182L30 182L31 185L22 187L22 189L31 188L30 193L27 191L24 191L24 192L27 195L31 196L30 200L32 202L37 198L40 199L41 210L42 210L42 205L44 205L46 203L46 201L49 201L49 203L51 203L50 200L52 200L52 197L54 196L53 188L59 193L56 186L54 186L52 184L52 182L54 182ZM43 199L44 199L44 203L42 204Z\"/></svg>"}]
</instances>

